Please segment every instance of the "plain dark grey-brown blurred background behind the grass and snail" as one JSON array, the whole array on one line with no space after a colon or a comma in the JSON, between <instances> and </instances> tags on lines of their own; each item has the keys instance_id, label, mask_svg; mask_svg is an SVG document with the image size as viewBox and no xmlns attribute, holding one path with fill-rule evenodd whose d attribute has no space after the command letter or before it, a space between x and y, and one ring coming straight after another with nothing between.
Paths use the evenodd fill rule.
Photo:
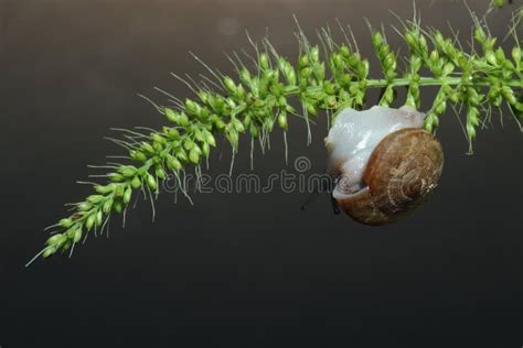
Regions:
<instances>
[{"instance_id":1,"label":"plain dark grey-brown blurred background behind the grass and snail","mask_svg":"<svg viewBox=\"0 0 523 348\"><path fill-rule=\"evenodd\" d=\"M425 24L448 33L450 22L469 40L461 2L417 2ZM0 0L0 346L521 347L523 139L509 117L479 132L473 156L456 117L442 117L440 188L393 226L333 216L327 196L302 213L306 195L279 191L200 195L194 206L162 195L154 224L142 203L109 239L23 268L63 204L88 193L74 183L93 173L86 164L121 153L103 140L108 129L163 124L136 94L189 96L168 74L203 72L189 51L232 73L223 53L248 45L245 30L269 28L296 57L296 13L310 36L335 18L351 24L370 54L363 18L397 25L391 10L413 15L403 0ZM510 8L494 13L493 33L509 19ZM434 91L424 98L426 109ZM291 121L289 156L320 173L324 122L310 148L305 131ZM256 152L263 177L285 166L279 132L273 143ZM211 173L228 167L222 150Z\"/></svg>"}]
</instances>

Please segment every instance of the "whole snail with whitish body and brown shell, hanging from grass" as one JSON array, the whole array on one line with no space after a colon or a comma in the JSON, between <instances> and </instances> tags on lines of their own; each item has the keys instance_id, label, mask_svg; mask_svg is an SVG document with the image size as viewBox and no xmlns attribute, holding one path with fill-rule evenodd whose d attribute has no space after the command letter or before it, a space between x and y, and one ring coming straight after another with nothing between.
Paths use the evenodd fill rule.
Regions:
<instances>
[{"instance_id":1,"label":"whole snail with whitish body and brown shell, hanging from grass","mask_svg":"<svg viewBox=\"0 0 523 348\"><path fill-rule=\"evenodd\" d=\"M394 222L419 207L438 185L441 144L410 107L343 109L325 138L332 197L354 220Z\"/></svg>"}]
</instances>

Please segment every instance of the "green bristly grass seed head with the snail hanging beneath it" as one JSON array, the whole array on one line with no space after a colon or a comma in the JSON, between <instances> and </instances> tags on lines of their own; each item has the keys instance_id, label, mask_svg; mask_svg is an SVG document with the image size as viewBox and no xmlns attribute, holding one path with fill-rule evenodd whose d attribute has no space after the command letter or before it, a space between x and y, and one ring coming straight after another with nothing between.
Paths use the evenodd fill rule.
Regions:
<instances>
[{"instance_id":1,"label":"green bristly grass seed head with the snail hanging beneath it","mask_svg":"<svg viewBox=\"0 0 523 348\"><path fill-rule=\"evenodd\" d=\"M492 2L495 7L504 3ZM281 56L267 39L260 44L252 42L254 54L247 53L244 61L238 55L231 59L236 77L213 70L195 56L210 77L196 83L177 76L194 98L182 101L169 95L169 105L161 107L151 101L168 124L147 134L142 129L129 131L124 140L114 140L127 149L129 160L110 164L107 181L94 185L94 193L53 227L53 236L40 254L47 258L73 248L92 229L102 233L113 215L127 211L138 192L151 200L153 208L161 183L171 174L180 178L191 168L201 173L202 160L210 156L218 138L228 142L233 154L239 150L239 138L244 135L259 138L265 146L275 124L285 133L291 124L289 119L299 116L307 124L310 141L310 123L320 111L328 111L332 124L340 110L369 109L372 89L381 90L378 108L397 104L423 110L426 117L418 127L429 133L441 126L449 109L462 110L470 143L492 109L508 108L522 121L523 64L516 29L523 22L523 11L516 11L509 50L503 50L484 21L473 14L474 45L470 50L463 48L468 37L460 42L437 29L421 28L416 19L402 23L398 32L408 52L399 55L399 50L388 44L384 30L371 28L370 42L381 67L381 76L376 77L370 76L371 61L361 55L356 43L338 43L329 30L321 35L324 50L300 30L296 62ZM421 104L420 95L429 86L437 88L436 97ZM407 90L405 99L398 99L402 88ZM296 105L301 107L297 109Z\"/></svg>"}]
</instances>

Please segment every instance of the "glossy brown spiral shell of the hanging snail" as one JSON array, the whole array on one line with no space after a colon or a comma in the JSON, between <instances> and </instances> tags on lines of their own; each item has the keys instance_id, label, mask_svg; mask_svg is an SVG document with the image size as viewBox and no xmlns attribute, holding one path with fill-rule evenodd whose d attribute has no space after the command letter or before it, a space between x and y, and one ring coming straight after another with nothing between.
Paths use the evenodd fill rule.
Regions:
<instances>
[{"instance_id":1,"label":"glossy brown spiral shell of the hanging snail","mask_svg":"<svg viewBox=\"0 0 523 348\"><path fill-rule=\"evenodd\" d=\"M337 198L340 208L365 225L394 222L419 207L438 185L444 165L441 143L419 128L386 135L363 172L361 191Z\"/></svg>"}]
</instances>

